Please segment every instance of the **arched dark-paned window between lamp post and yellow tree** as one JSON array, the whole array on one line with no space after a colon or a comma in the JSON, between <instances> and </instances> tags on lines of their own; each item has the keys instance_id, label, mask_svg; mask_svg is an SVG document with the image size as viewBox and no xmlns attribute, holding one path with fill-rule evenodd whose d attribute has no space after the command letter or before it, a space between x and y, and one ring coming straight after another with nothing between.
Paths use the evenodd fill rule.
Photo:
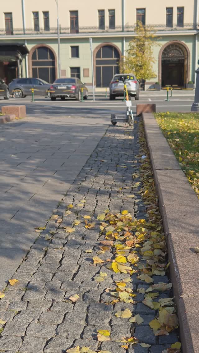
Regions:
<instances>
[{"instance_id":1,"label":"arched dark-paned window between lamp post and yellow tree","mask_svg":"<svg viewBox=\"0 0 199 353\"><path fill-rule=\"evenodd\" d=\"M116 46L106 44L94 51L96 87L108 87L113 76L119 73L121 53Z\"/></svg>"}]
</instances>

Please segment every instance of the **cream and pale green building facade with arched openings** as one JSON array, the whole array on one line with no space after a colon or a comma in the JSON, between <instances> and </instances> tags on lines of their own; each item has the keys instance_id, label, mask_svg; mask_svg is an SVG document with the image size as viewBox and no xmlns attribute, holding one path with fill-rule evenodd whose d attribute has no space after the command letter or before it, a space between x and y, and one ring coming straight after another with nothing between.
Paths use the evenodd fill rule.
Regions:
<instances>
[{"instance_id":1,"label":"cream and pale green building facade with arched openings","mask_svg":"<svg viewBox=\"0 0 199 353\"><path fill-rule=\"evenodd\" d=\"M58 2L58 7L57 7ZM89 38L93 40L94 84L109 86L118 62L135 36L135 24L153 26L155 77L146 86L186 87L198 65L199 0L14 0L1 4L0 77L59 76L57 9L60 31L60 76L92 84Z\"/></svg>"}]
</instances>

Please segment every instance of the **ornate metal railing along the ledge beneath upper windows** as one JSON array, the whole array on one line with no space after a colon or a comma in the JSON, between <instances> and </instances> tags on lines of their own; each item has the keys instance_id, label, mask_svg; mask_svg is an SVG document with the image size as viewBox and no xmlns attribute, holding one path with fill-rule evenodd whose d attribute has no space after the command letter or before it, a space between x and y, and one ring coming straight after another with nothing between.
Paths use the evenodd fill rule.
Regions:
<instances>
[{"instance_id":1,"label":"ornate metal railing along the ledge beneath upper windows","mask_svg":"<svg viewBox=\"0 0 199 353\"><path fill-rule=\"evenodd\" d=\"M78 27L76 29L76 33L83 34L83 33L114 33L114 32L134 32L136 24L130 25L126 24L124 28L122 26L116 26L114 29L109 28L109 26L105 26L104 29L99 29L97 26L84 26ZM183 26L177 26L174 24L172 27L167 27L165 24L153 24L153 25L146 25L146 28L152 28L154 31L187 31L187 30L199 30L199 23L185 23ZM70 27L62 27L60 26L60 34L75 34L74 30L71 30ZM0 29L0 36L1 35L41 35L41 34L57 34L57 27L51 27L49 30L45 30L44 28L40 28L39 31L35 31L34 28L26 28L25 33L23 28L14 28L13 34L6 34L5 29Z\"/></svg>"}]
</instances>

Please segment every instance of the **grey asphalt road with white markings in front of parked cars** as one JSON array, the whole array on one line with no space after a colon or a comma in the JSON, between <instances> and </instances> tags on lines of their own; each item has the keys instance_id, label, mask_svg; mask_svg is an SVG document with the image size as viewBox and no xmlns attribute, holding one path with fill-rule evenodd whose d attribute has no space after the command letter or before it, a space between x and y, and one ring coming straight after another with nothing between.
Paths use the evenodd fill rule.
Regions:
<instances>
[{"instance_id":1,"label":"grey asphalt road with white markings in front of parked cars","mask_svg":"<svg viewBox=\"0 0 199 353\"><path fill-rule=\"evenodd\" d=\"M169 92L170 95L170 92ZM140 100L135 101L132 98L132 110L136 113L137 103L156 103L157 112L190 112L194 101L194 91L173 91L169 101L165 101L166 91L140 92ZM123 114L125 111L125 102L122 98L116 98L115 101L109 101L109 95L105 98L105 92L95 94L95 101L89 94L89 99L84 102L66 99L61 101L51 101L49 98L36 96L35 102L31 102L31 96L25 98L10 98L9 101L0 99L0 107L7 104L25 104L27 114L30 116L39 116L47 114L48 116L106 116L111 113Z\"/></svg>"}]
</instances>

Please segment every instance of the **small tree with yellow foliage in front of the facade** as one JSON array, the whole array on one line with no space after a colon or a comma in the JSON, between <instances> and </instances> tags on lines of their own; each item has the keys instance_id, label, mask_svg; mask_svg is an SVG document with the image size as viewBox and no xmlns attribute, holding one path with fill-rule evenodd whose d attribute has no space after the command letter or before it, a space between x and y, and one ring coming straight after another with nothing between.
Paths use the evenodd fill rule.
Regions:
<instances>
[{"instance_id":1,"label":"small tree with yellow foliage in front of the facade","mask_svg":"<svg viewBox=\"0 0 199 353\"><path fill-rule=\"evenodd\" d=\"M135 33L136 36L129 42L127 55L122 56L120 72L134 73L138 80L147 80L155 76L153 46L157 42L154 41L153 29L146 28L140 21L137 21Z\"/></svg>"}]
</instances>

